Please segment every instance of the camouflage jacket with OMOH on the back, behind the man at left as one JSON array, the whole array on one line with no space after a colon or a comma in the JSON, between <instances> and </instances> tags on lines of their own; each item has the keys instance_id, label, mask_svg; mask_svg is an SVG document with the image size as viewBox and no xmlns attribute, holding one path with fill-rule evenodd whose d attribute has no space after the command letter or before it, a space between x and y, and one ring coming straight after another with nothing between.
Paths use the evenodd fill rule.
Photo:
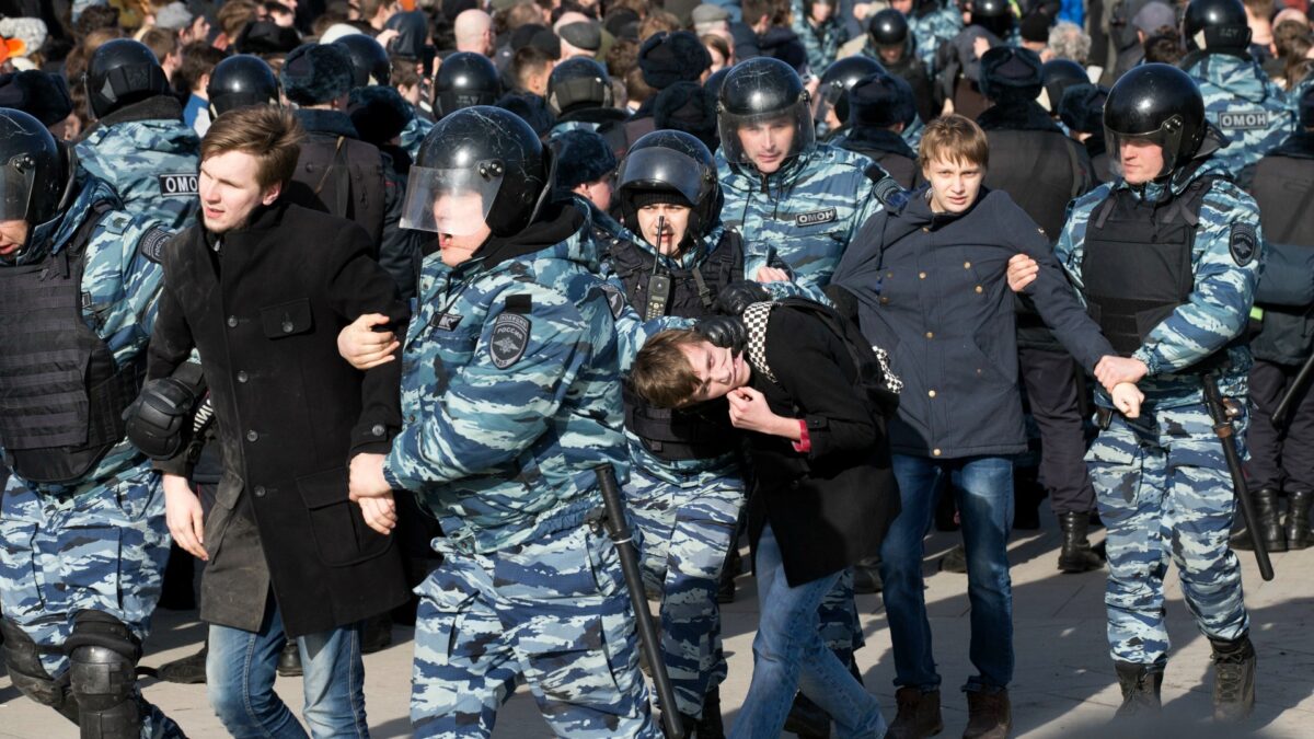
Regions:
<instances>
[{"instance_id":1,"label":"camouflage jacket with OMOH on the back, behind the man at left","mask_svg":"<svg viewBox=\"0 0 1314 739\"><path fill-rule=\"evenodd\" d=\"M109 183L133 216L145 214L166 229L196 220L201 139L181 120L142 120L95 125L78 142L78 159Z\"/></svg>"}]
</instances>

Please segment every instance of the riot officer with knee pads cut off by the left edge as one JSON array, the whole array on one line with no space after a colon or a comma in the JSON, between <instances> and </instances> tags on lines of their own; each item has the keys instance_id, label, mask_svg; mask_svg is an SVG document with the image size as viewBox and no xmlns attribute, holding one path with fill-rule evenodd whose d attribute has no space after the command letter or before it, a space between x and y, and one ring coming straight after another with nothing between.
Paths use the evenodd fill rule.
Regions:
<instances>
[{"instance_id":1,"label":"riot officer with knee pads cut off by the left edge","mask_svg":"<svg viewBox=\"0 0 1314 739\"><path fill-rule=\"evenodd\" d=\"M172 234L72 168L39 121L3 113L5 665L84 738L183 736L137 686L170 538L159 480L121 416L139 387Z\"/></svg>"}]
</instances>

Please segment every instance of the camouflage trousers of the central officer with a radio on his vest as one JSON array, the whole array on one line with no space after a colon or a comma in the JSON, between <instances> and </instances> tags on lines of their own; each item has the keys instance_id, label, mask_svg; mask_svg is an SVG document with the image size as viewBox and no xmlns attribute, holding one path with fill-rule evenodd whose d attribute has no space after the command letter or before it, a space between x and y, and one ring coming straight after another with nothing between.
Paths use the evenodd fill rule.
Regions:
<instances>
[{"instance_id":1,"label":"camouflage trousers of the central officer with a radio on his vest","mask_svg":"<svg viewBox=\"0 0 1314 739\"><path fill-rule=\"evenodd\" d=\"M737 534L744 480L690 477L696 485L686 488L635 467L625 505L639 529L644 585L661 594L661 644L677 707L699 717L703 697L725 680L716 590Z\"/></svg>"}]
</instances>

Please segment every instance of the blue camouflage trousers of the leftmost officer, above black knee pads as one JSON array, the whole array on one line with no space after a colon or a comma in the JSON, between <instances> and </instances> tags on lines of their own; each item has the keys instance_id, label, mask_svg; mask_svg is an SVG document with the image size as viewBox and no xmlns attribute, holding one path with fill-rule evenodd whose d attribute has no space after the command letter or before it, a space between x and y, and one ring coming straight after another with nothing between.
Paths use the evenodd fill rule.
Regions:
<instances>
[{"instance_id":1,"label":"blue camouflage trousers of the leftmost officer, above black knee pads","mask_svg":"<svg viewBox=\"0 0 1314 739\"><path fill-rule=\"evenodd\" d=\"M146 464L70 497L9 477L0 502L4 617L43 648L41 665L60 681L68 657L58 650L80 610L110 614L146 639L168 551L164 492ZM138 701L143 738L183 736L139 692Z\"/></svg>"}]
</instances>

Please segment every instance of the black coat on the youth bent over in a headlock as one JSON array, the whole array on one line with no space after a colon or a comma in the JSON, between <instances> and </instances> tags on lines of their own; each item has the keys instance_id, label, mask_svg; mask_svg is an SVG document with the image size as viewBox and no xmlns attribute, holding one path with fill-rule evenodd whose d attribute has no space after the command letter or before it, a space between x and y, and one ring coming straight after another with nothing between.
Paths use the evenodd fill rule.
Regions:
<instances>
[{"instance_id":1,"label":"black coat on the youth bent over in a headlock","mask_svg":"<svg viewBox=\"0 0 1314 739\"><path fill-rule=\"evenodd\" d=\"M861 341L857 327L850 333ZM844 341L815 316L778 306L766 326L766 364L753 388L771 412L807 421L812 448L784 437L749 434L754 487L749 535L754 550L771 525L790 586L878 556L899 514L899 488L880 413L855 387Z\"/></svg>"}]
</instances>

